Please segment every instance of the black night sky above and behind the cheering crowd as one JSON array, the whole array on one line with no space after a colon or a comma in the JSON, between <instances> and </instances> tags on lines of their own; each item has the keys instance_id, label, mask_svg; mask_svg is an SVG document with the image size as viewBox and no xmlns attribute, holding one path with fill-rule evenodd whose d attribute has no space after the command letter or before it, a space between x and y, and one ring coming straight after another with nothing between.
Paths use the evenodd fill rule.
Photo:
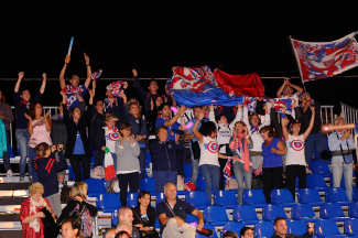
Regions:
<instances>
[{"instance_id":1,"label":"black night sky above and behind the cheering crowd","mask_svg":"<svg viewBox=\"0 0 358 238\"><path fill-rule=\"evenodd\" d=\"M297 76L288 35L334 41L358 30L356 1L336 6L327 6L327 1L308 6L301 1L87 2L2 6L0 78L14 78L21 71L28 78L41 77L43 72L50 78L58 77L70 36L75 42L66 77L86 76L84 52L90 56L93 71L102 68L106 78L131 77L133 67L140 77L171 77L172 66L204 64L211 69L223 65L230 74ZM286 73L264 74L275 72ZM358 75L358 68L343 75ZM268 96L274 96L282 84L282 79L262 80ZM307 83L306 88L322 105L338 109L344 101L358 108L356 80L327 78ZM292 83L302 85L300 79ZM10 104L14 84L0 82ZM34 94L40 82L25 80L23 86ZM44 105L57 104L59 96L54 95L58 91L58 83L48 82Z\"/></svg>"}]
</instances>

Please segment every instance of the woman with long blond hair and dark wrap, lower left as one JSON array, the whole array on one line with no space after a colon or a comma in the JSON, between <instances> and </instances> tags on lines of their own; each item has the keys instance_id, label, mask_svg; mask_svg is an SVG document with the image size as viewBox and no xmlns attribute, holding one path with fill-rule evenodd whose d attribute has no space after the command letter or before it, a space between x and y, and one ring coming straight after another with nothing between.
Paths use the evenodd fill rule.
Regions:
<instances>
[{"instance_id":1,"label":"woman with long blond hair and dark wrap, lower left","mask_svg":"<svg viewBox=\"0 0 358 238\"><path fill-rule=\"evenodd\" d=\"M66 207L62 210L57 226L62 226L65 219L75 218L80 223L80 230L85 237L91 237L93 223L91 219L97 215L97 207L90 205L87 199L87 184L76 182L69 192L69 201Z\"/></svg>"}]
</instances>

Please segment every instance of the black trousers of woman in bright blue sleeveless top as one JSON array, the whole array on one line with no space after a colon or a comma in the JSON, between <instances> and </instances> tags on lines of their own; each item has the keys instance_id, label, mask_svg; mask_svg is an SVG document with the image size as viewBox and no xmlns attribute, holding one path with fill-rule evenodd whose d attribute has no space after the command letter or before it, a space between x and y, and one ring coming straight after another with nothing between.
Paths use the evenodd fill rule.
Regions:
<instances>
[{"instance_id":1,"label":"black trousers of woman in bright blue sleeveless top","mask_svg":"<svg viewBox=\"0 0 358 238\"><path fill-rule=\"evenodd\" d=\"M271 191L281 188L283 166L279 167L263 167L263 194L265 201L271 203Z\"/></svg>"}]
</instances>

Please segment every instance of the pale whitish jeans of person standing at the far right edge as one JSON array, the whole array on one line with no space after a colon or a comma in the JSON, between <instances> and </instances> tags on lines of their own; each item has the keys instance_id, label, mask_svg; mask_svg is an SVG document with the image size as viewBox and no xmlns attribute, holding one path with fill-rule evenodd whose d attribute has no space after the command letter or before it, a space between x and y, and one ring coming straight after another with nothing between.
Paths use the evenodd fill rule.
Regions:
<instances>
[{"instance_id":1,"label":"pale whitish jeans of person standing at the far right edge","mask_svg":"<svg viewBox=\"0 0 358 238\"><path fill-rule=\"evenodd\" d=\"M345 175L346 193L349 201L351 197L352 163L346 164L343 160L332 160L333 186L340 187L341 174Z\"/></svg>"}]
</instances>

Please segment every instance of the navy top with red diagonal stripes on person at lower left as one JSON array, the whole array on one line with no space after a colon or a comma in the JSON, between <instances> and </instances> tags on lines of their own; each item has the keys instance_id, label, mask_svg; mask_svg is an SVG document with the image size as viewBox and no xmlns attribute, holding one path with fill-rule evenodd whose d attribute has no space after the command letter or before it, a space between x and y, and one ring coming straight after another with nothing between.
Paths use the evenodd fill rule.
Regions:
<instances>
[{"instance_id":1,"label":"navy top with red diagonal stripes on person at lower left","mask_svg":"<svg viewBox=\"0 0 358 238\"><path fill-rule=\"evenodd\" d=\"M37 171L39 182L44 186L43 197L58 193L57 172L67 167L66 159L63 152L58 152L59 162L55 154L51 153L48 158L37 156L34 159L35 170Z\"/></svg>"}]
</instances>

